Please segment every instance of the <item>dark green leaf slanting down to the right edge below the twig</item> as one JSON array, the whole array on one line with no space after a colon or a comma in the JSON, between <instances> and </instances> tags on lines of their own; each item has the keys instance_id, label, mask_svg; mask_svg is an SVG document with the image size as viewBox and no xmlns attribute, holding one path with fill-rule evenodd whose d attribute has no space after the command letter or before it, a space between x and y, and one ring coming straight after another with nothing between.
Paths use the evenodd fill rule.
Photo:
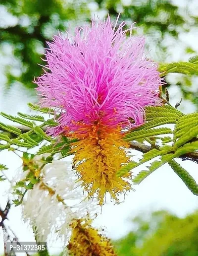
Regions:
<instances>
[{"instance_id":1,"label":"dark green leaf slanting down to the right edge below the twig","mask_svg":"<svg viewBox=\"0 0 198 256\"><path fill-rule=\"evenodd\" d=\"M173 171L182 179L188 189L194 194L198 195L198 185L193 177L175 160L169 161L168 164L171 166Z\"/></svg>"}]
</instances>

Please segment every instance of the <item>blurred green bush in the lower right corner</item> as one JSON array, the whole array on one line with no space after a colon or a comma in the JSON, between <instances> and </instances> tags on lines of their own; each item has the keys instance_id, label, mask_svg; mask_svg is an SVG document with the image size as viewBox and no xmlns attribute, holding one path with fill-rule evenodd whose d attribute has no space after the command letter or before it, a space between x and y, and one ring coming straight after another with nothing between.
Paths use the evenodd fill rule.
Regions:
<instances>
[{"instance_id":1,"label":"blurred green bush in the lower right corner","mask_svg":"<svg viewBox=\"0 0 198 256\"><path fill-rule=\"evenodd\" d=\"M197 256L198 212L178 218L156 211L133 219L135 231L114 244L118 256Z\"/></svg>"}]
</instances>

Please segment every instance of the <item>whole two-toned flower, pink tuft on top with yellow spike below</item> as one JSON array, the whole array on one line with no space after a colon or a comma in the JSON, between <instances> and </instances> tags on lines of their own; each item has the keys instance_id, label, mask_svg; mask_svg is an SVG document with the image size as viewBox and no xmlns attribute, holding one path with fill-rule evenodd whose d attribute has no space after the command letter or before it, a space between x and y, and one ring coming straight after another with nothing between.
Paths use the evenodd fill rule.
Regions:
<instances>
[{"instance_id":1,"label":"whole two-toned flower, pink tuft on top with yellow spike below","mask_svg":"<svg viewBox=\"0 0 198 256\"><path fill-rule=\"evenodd\" d=\"M46 54L49 71L36 81L40 104L60 114L49 133L78 140L71 145L78 180L100 205L106 192L119 202L131 189L131 173L116 175L129 162L123 129L143 124L144 107L160 104L157 64L144 55L144 38L127 38L124 25L116 30L108 17L76 29L74 37L55 36Z\"/></svg>"}]
</instances>

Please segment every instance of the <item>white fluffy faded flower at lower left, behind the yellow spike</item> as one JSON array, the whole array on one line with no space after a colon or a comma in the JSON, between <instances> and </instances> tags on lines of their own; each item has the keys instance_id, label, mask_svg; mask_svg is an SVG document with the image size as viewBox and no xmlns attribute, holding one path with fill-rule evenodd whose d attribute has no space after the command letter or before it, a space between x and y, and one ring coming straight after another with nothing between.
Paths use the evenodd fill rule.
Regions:
<instances>
[{"instance_id":1,"label":"white fluffy faded flower at lower left, behind the yellow spike","mask_svg":"<svg viewBox=\"0 0 198 256\"><path fill-rule=\"evenodd\" d=\"M43 168L42 182L27 192L23 200L24 218L36 227L40 241L56 234L66 243L72 219L96 213L97 202L85 199L76 179L71 163L54 160Z\"/></svg>"}]
</instances>

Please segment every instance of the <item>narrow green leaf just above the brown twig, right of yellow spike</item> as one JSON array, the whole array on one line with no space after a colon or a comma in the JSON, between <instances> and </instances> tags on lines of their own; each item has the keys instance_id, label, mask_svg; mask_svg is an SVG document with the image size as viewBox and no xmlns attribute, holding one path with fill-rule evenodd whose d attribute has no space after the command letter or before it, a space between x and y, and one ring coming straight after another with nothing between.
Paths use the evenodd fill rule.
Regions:
<instances>
[{"instance_id":1,"label":"narrow green leaf just above the brown twig, right of yellow spike","mask_svg":"<svg viewBox=\"0 0 198 256\"><path fill-rule=\"evenodd\" d=\"M128 133L124 136L124 140L130 141L138 138L145 138L149 136L154 135L161 135L161 134L167 134L172 133L172 130L170 128L153 128L153 129L143 129L138 131L132 131L131 133Z\"/></svg>"}]
</instances>

